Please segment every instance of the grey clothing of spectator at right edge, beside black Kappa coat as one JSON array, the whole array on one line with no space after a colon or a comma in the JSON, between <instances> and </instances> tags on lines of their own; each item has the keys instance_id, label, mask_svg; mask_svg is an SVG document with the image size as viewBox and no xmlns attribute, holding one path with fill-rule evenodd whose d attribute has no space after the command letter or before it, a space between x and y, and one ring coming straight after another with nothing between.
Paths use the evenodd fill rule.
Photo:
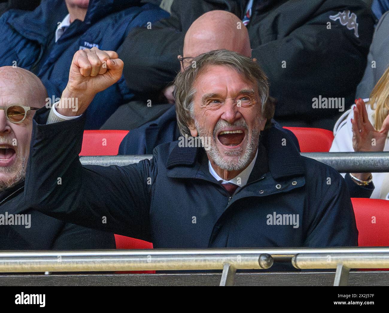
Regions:
<instances>
[{"instance_id":1,"label":"grey clothing of spectator at right edge, beside black Kappa coat","mask_svg":"<svg viewBox=\"0 0 389 313\"><path fill-rule=\"evenodd\" d=\"M371 91L386 68L389 66L389 12L386 12L378 22L373 41L370 45L370 51L367 57L367 65L363 78L359 82L356 99L369 98Z\"/></svg>"}]
</instances>

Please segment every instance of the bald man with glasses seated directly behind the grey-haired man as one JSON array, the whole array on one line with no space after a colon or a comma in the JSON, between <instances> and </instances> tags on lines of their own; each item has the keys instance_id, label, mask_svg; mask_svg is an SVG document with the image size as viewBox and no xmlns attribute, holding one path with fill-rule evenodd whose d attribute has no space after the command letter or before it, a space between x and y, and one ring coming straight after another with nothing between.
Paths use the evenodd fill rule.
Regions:
<instances>
[{"instance_id":1,"label":"bald man with glasses seated directly behind the grey-haired man","mask_svg":"<svg viewBox=\"0 0 389 313\"><path fill-rule=\"evenodd\" d=\"M238 29L235 25L239 22L240 19L230 12L214 10L204 13L192 23L186 32L183 48L184 55L198 56L212 50L226 49L251 57L247 28L242 25ZM181 71L191 66L193 58L182 59L182 56L178 56L178 58L181 60ZM176 110L175 105L171 104L175 101L172 93L173 90L174 85L165 88L165 96L170 104L154 105L154 108L158 108L158 110L160 107L168 107L168 110L157 119L131 130L123 139L119 147L119 154L151 154L159 144L178 140L180 133L177 126ZM266 108L269 109L267 117L273 116L274 105L270 100L266 103ZM112 114L107 123L110 122L113 126L119 119L123 120L123 122L128 122L128 124L142 120L142 116L147 116L144 111L150 110L153 106L141 106L142 108L139 108L137 112L134 107L123 105ZM127 110L127 112L123 111L123 109ZM129 120L128 116L136 118ZM279 127L277 123L275 125ZM298 141L293 133L286 129L282 130L289 134L298 147Z\"/></svg>"}]
</instances>

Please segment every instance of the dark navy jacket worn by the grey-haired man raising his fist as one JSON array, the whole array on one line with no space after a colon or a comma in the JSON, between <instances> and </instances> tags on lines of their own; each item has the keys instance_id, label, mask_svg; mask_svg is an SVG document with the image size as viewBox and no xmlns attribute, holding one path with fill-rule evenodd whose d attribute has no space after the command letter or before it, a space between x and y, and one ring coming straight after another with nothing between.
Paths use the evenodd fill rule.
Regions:
<instances>
[{"instance_id":1,"label":"dark navy jacket worn by the grey-haired man raising his fist","mask_svg":"<svg viewBox=\"0 0 389 313\"><path fill-rule=\"evenodd\" d=\"M209 173L203 148L171 142L138 164L82 166L84 115L46 125L47 115L42 108L33 120L25 190L42 213L154 248L357 245L343 178L300 156L291 140L283 145L284 132L275 127L263 132L249 181L230 198ZM269 224L274 214L291 214L298 227Z\"/></svg>"}]
</instances>

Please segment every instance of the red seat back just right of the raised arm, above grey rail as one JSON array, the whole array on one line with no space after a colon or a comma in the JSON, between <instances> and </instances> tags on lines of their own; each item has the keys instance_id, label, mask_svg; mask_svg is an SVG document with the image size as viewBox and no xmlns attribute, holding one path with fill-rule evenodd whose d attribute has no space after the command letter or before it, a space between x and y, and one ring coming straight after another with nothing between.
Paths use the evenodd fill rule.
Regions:
<instances>
[{"instance_id":1,"label":"red seat back just right of the raised arm, above grey rail","mask_svg":"<svg viewBox=\"0 0 389 313\"><path fill-rule=\"evenodd\" d=\"M80 156L116 156L128 130L86 130Z\"/></svg>"}]
</instances>

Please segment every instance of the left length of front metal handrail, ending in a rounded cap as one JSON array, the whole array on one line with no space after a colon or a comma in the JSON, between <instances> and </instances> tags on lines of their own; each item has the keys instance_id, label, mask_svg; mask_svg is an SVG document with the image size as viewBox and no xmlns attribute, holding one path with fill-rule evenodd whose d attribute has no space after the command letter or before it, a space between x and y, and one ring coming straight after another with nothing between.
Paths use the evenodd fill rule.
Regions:
<instances>
[{"instance_id":1,"label":"left length of front metal handrail, ending in a rounded cap","mask_svg":"<svg viewBox=\"0 0 389 313\"><path fill-rule=\"evenodd\" d=\"M86 271L149 271L149 270L209 270L223 269L230 264L235 269L267 269L273 264L268 254L175 254L154 253L153 250L127 250L128 253L94 254L93 252L56 251L0 252L0 272L86 272Z\"/></svg>"}]
</instances>

